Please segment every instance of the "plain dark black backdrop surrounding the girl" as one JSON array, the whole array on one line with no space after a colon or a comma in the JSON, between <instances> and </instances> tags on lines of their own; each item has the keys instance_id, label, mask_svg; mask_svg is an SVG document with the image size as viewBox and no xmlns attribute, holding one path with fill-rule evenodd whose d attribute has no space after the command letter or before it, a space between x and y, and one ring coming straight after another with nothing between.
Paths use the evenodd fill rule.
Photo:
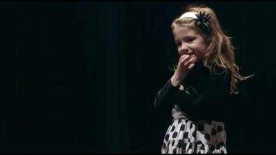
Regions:
<instances>
[{"instance_id":1,"label":"plain dark black backdrop surrounding the girl","mask_svg":"<svg viewBox=\"0 0 276 155\"><path fill-rule=\"evenodd\" d=\"M0 153L159 153L172 117L152 104L187 3L1 2ZM255 74L228 105L228 152L276 152L276 3L201 3Z\"/></svg>"}]
</instances>

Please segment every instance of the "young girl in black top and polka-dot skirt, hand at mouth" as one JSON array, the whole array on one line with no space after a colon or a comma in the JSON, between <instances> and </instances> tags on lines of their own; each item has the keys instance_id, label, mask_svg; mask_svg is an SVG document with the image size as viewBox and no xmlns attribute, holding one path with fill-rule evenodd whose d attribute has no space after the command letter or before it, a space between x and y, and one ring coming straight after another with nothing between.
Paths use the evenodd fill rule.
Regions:
<instances>
[{"instance_id":1,"label":"young girl in black top and polka-dot skirt, hand at mouth","mask_svg":"<svg viewBox=\"0 0 276 155\"><path fill-rule=\"evenodd\" d=\"M237 81L250 76L239 74L233 45L212 9L188 6L171 27L180 57L154 103L173 117L161 153L227 153L224 106L237 94Z\"/></svg>"}]
</instances>

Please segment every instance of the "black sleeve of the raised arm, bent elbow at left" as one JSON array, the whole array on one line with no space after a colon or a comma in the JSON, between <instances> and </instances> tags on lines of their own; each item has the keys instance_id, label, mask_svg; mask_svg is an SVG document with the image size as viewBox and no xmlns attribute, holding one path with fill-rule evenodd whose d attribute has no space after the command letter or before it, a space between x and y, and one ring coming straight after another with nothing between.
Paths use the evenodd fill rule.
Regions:
<instances>
[{"instance_id":1,"label":"black sleeve of the raised arm, bent elbow at left","mask_svg":"<svg viewBox=\"0 0 276 155\"><path fill-rule=\"evenodd\" d=\"M178 90L179 87L173 86L169 79L155 96L155 101L153 103L155 109L163 112L172 110L172 100Z\"/></svg>"}]
</instances>

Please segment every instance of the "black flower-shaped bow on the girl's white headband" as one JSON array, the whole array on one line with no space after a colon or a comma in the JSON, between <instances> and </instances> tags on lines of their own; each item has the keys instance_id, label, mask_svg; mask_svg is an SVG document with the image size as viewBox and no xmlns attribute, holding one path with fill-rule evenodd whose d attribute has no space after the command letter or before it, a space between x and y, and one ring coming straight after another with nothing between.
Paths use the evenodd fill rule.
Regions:
<instances>
[{"instance_id":1,"label":"black flower-shaped bow on the girl's white headband","mask_svg":"<svg viewBox=\"0 0 276 155\"><path fill-rule=\"evenodd\" d=\"M210 15L205 14L205 12L199 12L199 14L196 14L196 16L197 19L195 19L195 24L198 25L201 30L209 34L212 30L212 28L210 27Z\"/></svg>"}]
</instances>

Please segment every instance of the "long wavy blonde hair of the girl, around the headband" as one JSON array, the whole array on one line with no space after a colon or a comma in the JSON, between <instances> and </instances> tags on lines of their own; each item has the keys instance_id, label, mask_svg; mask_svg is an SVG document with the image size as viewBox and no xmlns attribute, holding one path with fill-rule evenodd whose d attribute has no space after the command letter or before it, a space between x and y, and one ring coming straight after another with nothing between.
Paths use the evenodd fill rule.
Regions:
<instances>
[{"instance_id":1,"label":"long wavy blonde hair of the girl, around the headband","mask_svg":"<svg viewBox=\"0 0 276 155\"><path fill-rule=\"evenodd\" d=\"M224 68L225 72L227 72L226 69L230 70L230 72L232 73L230 94L237 94L237 82L244 81L254 75L242 76L241 74L239 74L239 67L235 63L235 53L231 38L224 34L224 31L219 24L219 20L217 19L215 12L211 8L199 4L190 4L189 6L187 6L186 10L183 13L185 12L205 12L209 14L211 21L210 27L212 28L212 31L210 32L210 34L206 34L197 25L195 25L194 19L179 19L179 17L177 17L177 19L172 21L172 32L177 25L192 25L189 27L197 30L200 34L202 34L202 36L204 37L204 39L206 39L208 43L208 52L202 59L203 65L209 68L212 73L215 72L215 68L213 68L213 65L221 66L222 68ZM176 67L174 68L174 70L175 69Z\"/></svg>"}]
</instances>

